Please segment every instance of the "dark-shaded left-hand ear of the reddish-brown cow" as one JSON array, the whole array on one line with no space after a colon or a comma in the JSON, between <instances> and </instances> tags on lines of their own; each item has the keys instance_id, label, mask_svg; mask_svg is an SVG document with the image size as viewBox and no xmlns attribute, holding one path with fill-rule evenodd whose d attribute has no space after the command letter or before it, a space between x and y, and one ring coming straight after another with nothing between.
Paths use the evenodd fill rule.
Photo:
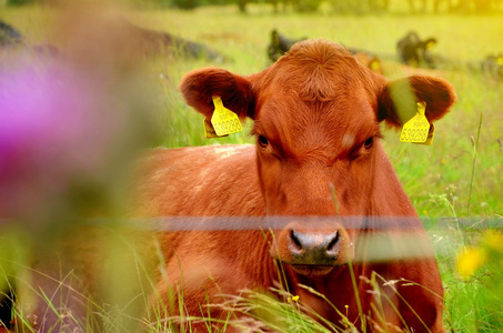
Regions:
<instances>
[{"instance_id":1,"label":"dark-shaded left-hand ear of the reddish-brown cow","mask_svg":"<svg viewBox=\"0 0 503 333\"><path fill-rule=\"evenodd\" d=\"M220 97L223 105L239 118L253 118L254 94L248 78L218 68L204 68L188 73L180 91L185 102L210 119L214 111L212 97Z\"/></svg>"}]
</instances>

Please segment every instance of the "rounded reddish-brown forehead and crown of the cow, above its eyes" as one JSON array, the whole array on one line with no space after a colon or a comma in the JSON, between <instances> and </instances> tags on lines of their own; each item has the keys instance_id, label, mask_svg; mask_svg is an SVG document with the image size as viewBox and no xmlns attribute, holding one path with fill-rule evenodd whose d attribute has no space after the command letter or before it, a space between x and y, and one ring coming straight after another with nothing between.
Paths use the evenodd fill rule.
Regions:
<instances>
[{"instance_id":1,"label":"rounded reddish-brown forehead and crown of the cow, above its eyes","mask_svg":"<svg viewBox=\"0 0 503 333\"><path fill-rule=\"evenodd\" d=\"M293 48L259 81L255 132L292 153L336 154L379 133L373 79L339 44Z\"/></svg>"}]
</instances>

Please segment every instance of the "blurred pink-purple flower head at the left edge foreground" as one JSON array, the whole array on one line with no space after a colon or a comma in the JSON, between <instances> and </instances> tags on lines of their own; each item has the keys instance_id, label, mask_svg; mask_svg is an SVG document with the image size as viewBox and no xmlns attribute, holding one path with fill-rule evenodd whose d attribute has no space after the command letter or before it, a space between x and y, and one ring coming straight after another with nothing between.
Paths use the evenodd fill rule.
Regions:
<instances>
[{"instance_id":1,"label":"blurred pink-purple flower head at the left edge foreground","mask_svg":"<svg viewBox=\"0 0 503 333\"><path fill-rule=\"evenodd\" d=\"M107 81L62 62L0 71L0 216L54 209L76 183L108 185L131 110Z\"/></svg>"}]
</instances>

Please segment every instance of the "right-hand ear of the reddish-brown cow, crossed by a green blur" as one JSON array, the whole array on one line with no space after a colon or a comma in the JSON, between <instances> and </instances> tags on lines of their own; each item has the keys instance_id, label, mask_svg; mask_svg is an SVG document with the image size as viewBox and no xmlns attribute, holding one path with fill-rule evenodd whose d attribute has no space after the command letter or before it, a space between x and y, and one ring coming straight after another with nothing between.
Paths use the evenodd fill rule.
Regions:
<instances>
[{"instance_id":1,"label":"right-hand ear of the reddish-brown cow, crossed by a green blur","mask_svg":"<svg viewBox=\"0 0 503 333\"><path fill-rule=\"evenodd\" d=\"M445 80L412 75L388 82L379 97L378 120L401 128L415 115L418 102L426 103L430 123L441 119L455 102L454 88Z\"/></svg>"}]
</instances>

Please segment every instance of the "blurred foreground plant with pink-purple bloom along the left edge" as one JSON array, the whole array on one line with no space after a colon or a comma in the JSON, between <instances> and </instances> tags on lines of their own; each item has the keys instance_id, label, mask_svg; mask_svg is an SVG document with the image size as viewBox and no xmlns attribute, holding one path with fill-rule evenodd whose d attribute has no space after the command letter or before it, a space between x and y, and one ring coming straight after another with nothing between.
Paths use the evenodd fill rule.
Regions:
<instances>
[{"instance_id":1,"label":"blurred foreground plant with pink-purple bloom along the left edge","mask_svg":"<svg viewBox=\"0 0 503 333\"><path fill-rule=\"evenodd\" d=\"M61 9L58 54L1 58L0 302L17 303L16 326L26 330L89 331L103 325L102 304L141 311L131 303L152 270L120 225L133 161L158 140L158 105L142 54L114 29L114 14ZM117 281L120 290L110 287ZM7 311L0 306L8 326Z\"/></svg>"}]
</instances>

